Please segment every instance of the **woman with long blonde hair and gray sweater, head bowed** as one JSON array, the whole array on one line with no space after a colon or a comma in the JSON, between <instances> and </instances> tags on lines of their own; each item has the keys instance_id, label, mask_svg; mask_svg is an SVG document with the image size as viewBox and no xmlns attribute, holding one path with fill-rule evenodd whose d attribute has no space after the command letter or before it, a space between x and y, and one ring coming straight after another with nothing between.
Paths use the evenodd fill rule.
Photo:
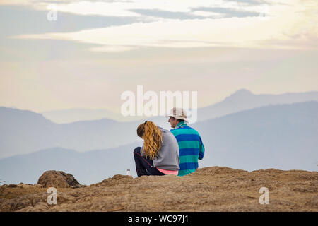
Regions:
<instances>
[{"instance_id":1,"label":"woman with long blonde hair and gray sweater, head bowed","mask_svg":"<svg viewBox=\"0 0 318 226\"><path fill-rule=\"evenodd\" d=\"M138 177L143 175L177 175L179 172L179 146L170 131L145 121L137 128L143 146L135 148L134 159Z\"/></svg>"}]
</instances>

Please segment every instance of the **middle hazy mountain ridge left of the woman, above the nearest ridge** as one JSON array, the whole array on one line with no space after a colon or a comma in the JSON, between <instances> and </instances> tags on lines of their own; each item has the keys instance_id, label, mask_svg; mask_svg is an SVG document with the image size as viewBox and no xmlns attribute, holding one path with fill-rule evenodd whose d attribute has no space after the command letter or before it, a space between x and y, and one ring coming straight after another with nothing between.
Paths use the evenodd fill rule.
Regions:
<instances>
[{"instance_id":1,"label":"middle hazy mountain ridge left of the woman, above the nearest ridge","mask_svg":"<svg viewBox=\"0 0 318 226\"><path fill-rule=\"evenodd\" d=\"M140 123L99 119L55 124L35 112L0 107L0 158L56 146L81 152L114 148L139 141Z\"/></svg>"}]
</instances>

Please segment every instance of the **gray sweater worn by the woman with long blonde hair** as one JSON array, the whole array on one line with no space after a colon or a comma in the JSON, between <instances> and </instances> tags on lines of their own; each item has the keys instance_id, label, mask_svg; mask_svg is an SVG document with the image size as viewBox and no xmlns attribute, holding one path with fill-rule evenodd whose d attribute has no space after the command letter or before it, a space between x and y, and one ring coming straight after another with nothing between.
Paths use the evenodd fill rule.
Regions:
<instances>
[{"instance_id":1,"label":"gray sweater worn by the woman with long blonde hair","mask_svg":"<svg viewBox=\"0 0 318 226\"><path fill-rule=\"evenodd\" d=\"M153 158L153 166L166 170L179 170L179 145L175 136L166 129L158 126L163 133L163 143L160 150L158 150L157 156ZM143 147L141 147L141 155L143 153Z\"/></svg>"}]
</instances>

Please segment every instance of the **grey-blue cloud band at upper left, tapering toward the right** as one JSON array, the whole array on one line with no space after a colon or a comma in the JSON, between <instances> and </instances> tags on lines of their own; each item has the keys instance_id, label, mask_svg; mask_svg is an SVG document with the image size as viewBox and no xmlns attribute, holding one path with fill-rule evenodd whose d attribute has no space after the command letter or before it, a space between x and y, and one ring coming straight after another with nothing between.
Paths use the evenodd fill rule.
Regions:
<instances>
[{"instance_id":1,"label":"grey-blue cloud band at upper left, tapering toward the right","mask_svg":"<svg viewBox=\"0 0 318 226\"><path fill-rule=\"evenodd\" d=\"M78 15L59 12L56 21L47 20L49 11L36 11L30 6L0 6L0 37L25 33L73 32L106 28L140 21L136 17ZM8 23L10 21L10 23Z\"/></svg>"}]
</instances>

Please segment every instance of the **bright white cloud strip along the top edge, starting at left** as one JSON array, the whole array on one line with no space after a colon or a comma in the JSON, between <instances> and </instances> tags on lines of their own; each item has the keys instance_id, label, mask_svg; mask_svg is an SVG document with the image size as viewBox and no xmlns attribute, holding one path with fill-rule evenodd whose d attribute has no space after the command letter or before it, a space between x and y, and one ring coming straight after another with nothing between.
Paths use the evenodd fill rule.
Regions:
<instances>
[{"instance_id":1,"label":"bright white cloud strip along the top edge, starting at left","mask_svg":"<svg viewBox=\"0 0 318 226\"><path fill-rule=\"evenodd\" d=\"M4 0L1 4L19 4L16 0ZM257 4L259 2L259 4ZM228 1L228 0L131 0L131 1L40 1L40 0L23 0L21 5L28 4L36 10L48 9L51 4L57 6L59 12L75 13L81 15L100 15L100 16L182 16L185 13L187 16L195 17L195 13L191 15L192 8L209 8L223 7L234 8L238 11L244 11L244 8L253 9L254 6L264 4L264 1ZM254 7L255 8L255 7ZM153 11L153 15L149 13ZM158 14L159 13L159 14ZM177 14L173 14L177 13ZM168 17L167 17L168 16ZM183 15L184 16L184 15Z\"/></svg>"}]
</instances>

